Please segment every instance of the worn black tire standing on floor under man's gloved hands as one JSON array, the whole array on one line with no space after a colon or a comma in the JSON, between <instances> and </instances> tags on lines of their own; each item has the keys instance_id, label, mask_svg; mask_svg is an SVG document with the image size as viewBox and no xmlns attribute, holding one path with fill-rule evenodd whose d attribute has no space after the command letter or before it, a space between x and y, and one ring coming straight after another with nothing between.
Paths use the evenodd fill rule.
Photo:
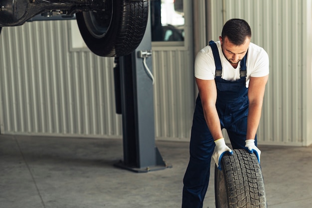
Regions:
<instances>
[{"instance_id":1,"label":"worn black tire standing on floor under man's gloved hands","mask_svg":"<svg viewBox=\"0 0 312 208\"><path fill-rule=\"evenodd\" d=\"M261 167L255 154L233 150L215 167L216 208L267 208Z\"/></svg>"}]
</instances>

